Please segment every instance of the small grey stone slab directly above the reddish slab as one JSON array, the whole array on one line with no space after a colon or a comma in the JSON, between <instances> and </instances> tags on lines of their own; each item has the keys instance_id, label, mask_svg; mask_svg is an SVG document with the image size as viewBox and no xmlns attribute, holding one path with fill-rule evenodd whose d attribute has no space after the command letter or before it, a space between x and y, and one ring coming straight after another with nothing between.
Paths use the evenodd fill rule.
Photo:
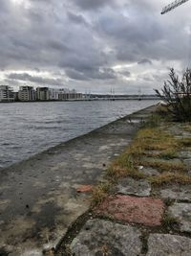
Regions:
<instances>
[{"instance_id":1,"label":"small grey stone slab directly above the reddish slab","mask_svg":"<svg viewBox=\"0 0 191 256\"><path fill-rule=\"evenodd\" d=\"M151 185L145 179L134 179L131 177L122 178L119 180L117 193L124 195L135 195L139 197L148 197L151 192Z\"/></svg>"}]
</instances>

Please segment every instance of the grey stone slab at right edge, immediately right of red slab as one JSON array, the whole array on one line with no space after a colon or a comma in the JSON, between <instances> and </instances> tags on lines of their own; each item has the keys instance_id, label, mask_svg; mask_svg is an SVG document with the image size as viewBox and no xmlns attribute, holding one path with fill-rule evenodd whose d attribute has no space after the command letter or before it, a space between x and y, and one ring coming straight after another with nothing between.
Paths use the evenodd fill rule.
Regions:
<instances>
[{"instance_id":1,"label":"grey stone slab at right edge, immediately right of red slab","mask_svg":"<svg viewBox=\"0 0 191 256\"><path fill-rule=\"evenodd\" d=\"M191 203L175 203L168 212L180 222L181 232L191 233Z\"/></svg>"}]
</instances>

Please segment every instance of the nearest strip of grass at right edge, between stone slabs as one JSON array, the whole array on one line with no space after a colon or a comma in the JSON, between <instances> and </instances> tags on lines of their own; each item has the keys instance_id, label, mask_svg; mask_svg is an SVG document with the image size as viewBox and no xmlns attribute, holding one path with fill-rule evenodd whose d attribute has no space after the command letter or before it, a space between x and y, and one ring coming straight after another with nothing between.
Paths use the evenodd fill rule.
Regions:
<instances>
[{"instance_id":1,"label":"nearest strip of grass at right edge, between stone slabs","mask_svg":"<svg viewBox=\"0 0 191 256\"><path fill-rule=\"evenodd\" d=\"M147 178L152 185L161 186L163 184L191 184L191 176L176 174L176 173L163 173L161 175L155 175Z\"/></svg>"}]
</instances>

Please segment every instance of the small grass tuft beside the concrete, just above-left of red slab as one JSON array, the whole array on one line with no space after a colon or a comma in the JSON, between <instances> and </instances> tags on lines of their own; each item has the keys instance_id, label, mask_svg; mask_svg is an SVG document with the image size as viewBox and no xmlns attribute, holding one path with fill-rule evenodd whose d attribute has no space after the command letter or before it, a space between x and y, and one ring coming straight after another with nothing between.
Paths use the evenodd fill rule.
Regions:
<instances>
[{"instance_id":1,"label":"small grass tuft beside the concrete, just above-left of red slab","mask_svg":"<svg viewBox=\"0 0 191 256\"><path fill-rule=\"evenodd\" d=\"M112 183L110 181L99 183L95 186L92 192L92 207L100 204L108 196L111 187Z\"/></svg>"}]
</instances>

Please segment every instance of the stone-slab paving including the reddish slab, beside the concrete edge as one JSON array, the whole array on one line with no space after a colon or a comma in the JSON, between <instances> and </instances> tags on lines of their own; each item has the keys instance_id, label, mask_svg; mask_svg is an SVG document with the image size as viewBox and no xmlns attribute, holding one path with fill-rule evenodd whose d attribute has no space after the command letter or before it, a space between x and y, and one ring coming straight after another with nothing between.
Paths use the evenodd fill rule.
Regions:
<instances>
[{"instance_id":1,"label":"stone-slab paving including the reddish slab, beside the concrete edge","mask_svg":"<svg viewBox=\"0 0 191 256\"><path fill-rule=\"evenodd\" d=\"M191 128L171 124L162 127L187 147L168 162L181 163L191 175ZM185 143L186 144L186 143ZM150 157L150 161L155 160ZM141 167L148 176L161 170ZM182 174L182 170L171 170ZM179 182L152 186L146 178L126 177L111 195L84 220L76 221L55 255L75 256L190 256L191 184ZM71 239L70 239L71 237Z\"/></svg>"}]
</instances>

